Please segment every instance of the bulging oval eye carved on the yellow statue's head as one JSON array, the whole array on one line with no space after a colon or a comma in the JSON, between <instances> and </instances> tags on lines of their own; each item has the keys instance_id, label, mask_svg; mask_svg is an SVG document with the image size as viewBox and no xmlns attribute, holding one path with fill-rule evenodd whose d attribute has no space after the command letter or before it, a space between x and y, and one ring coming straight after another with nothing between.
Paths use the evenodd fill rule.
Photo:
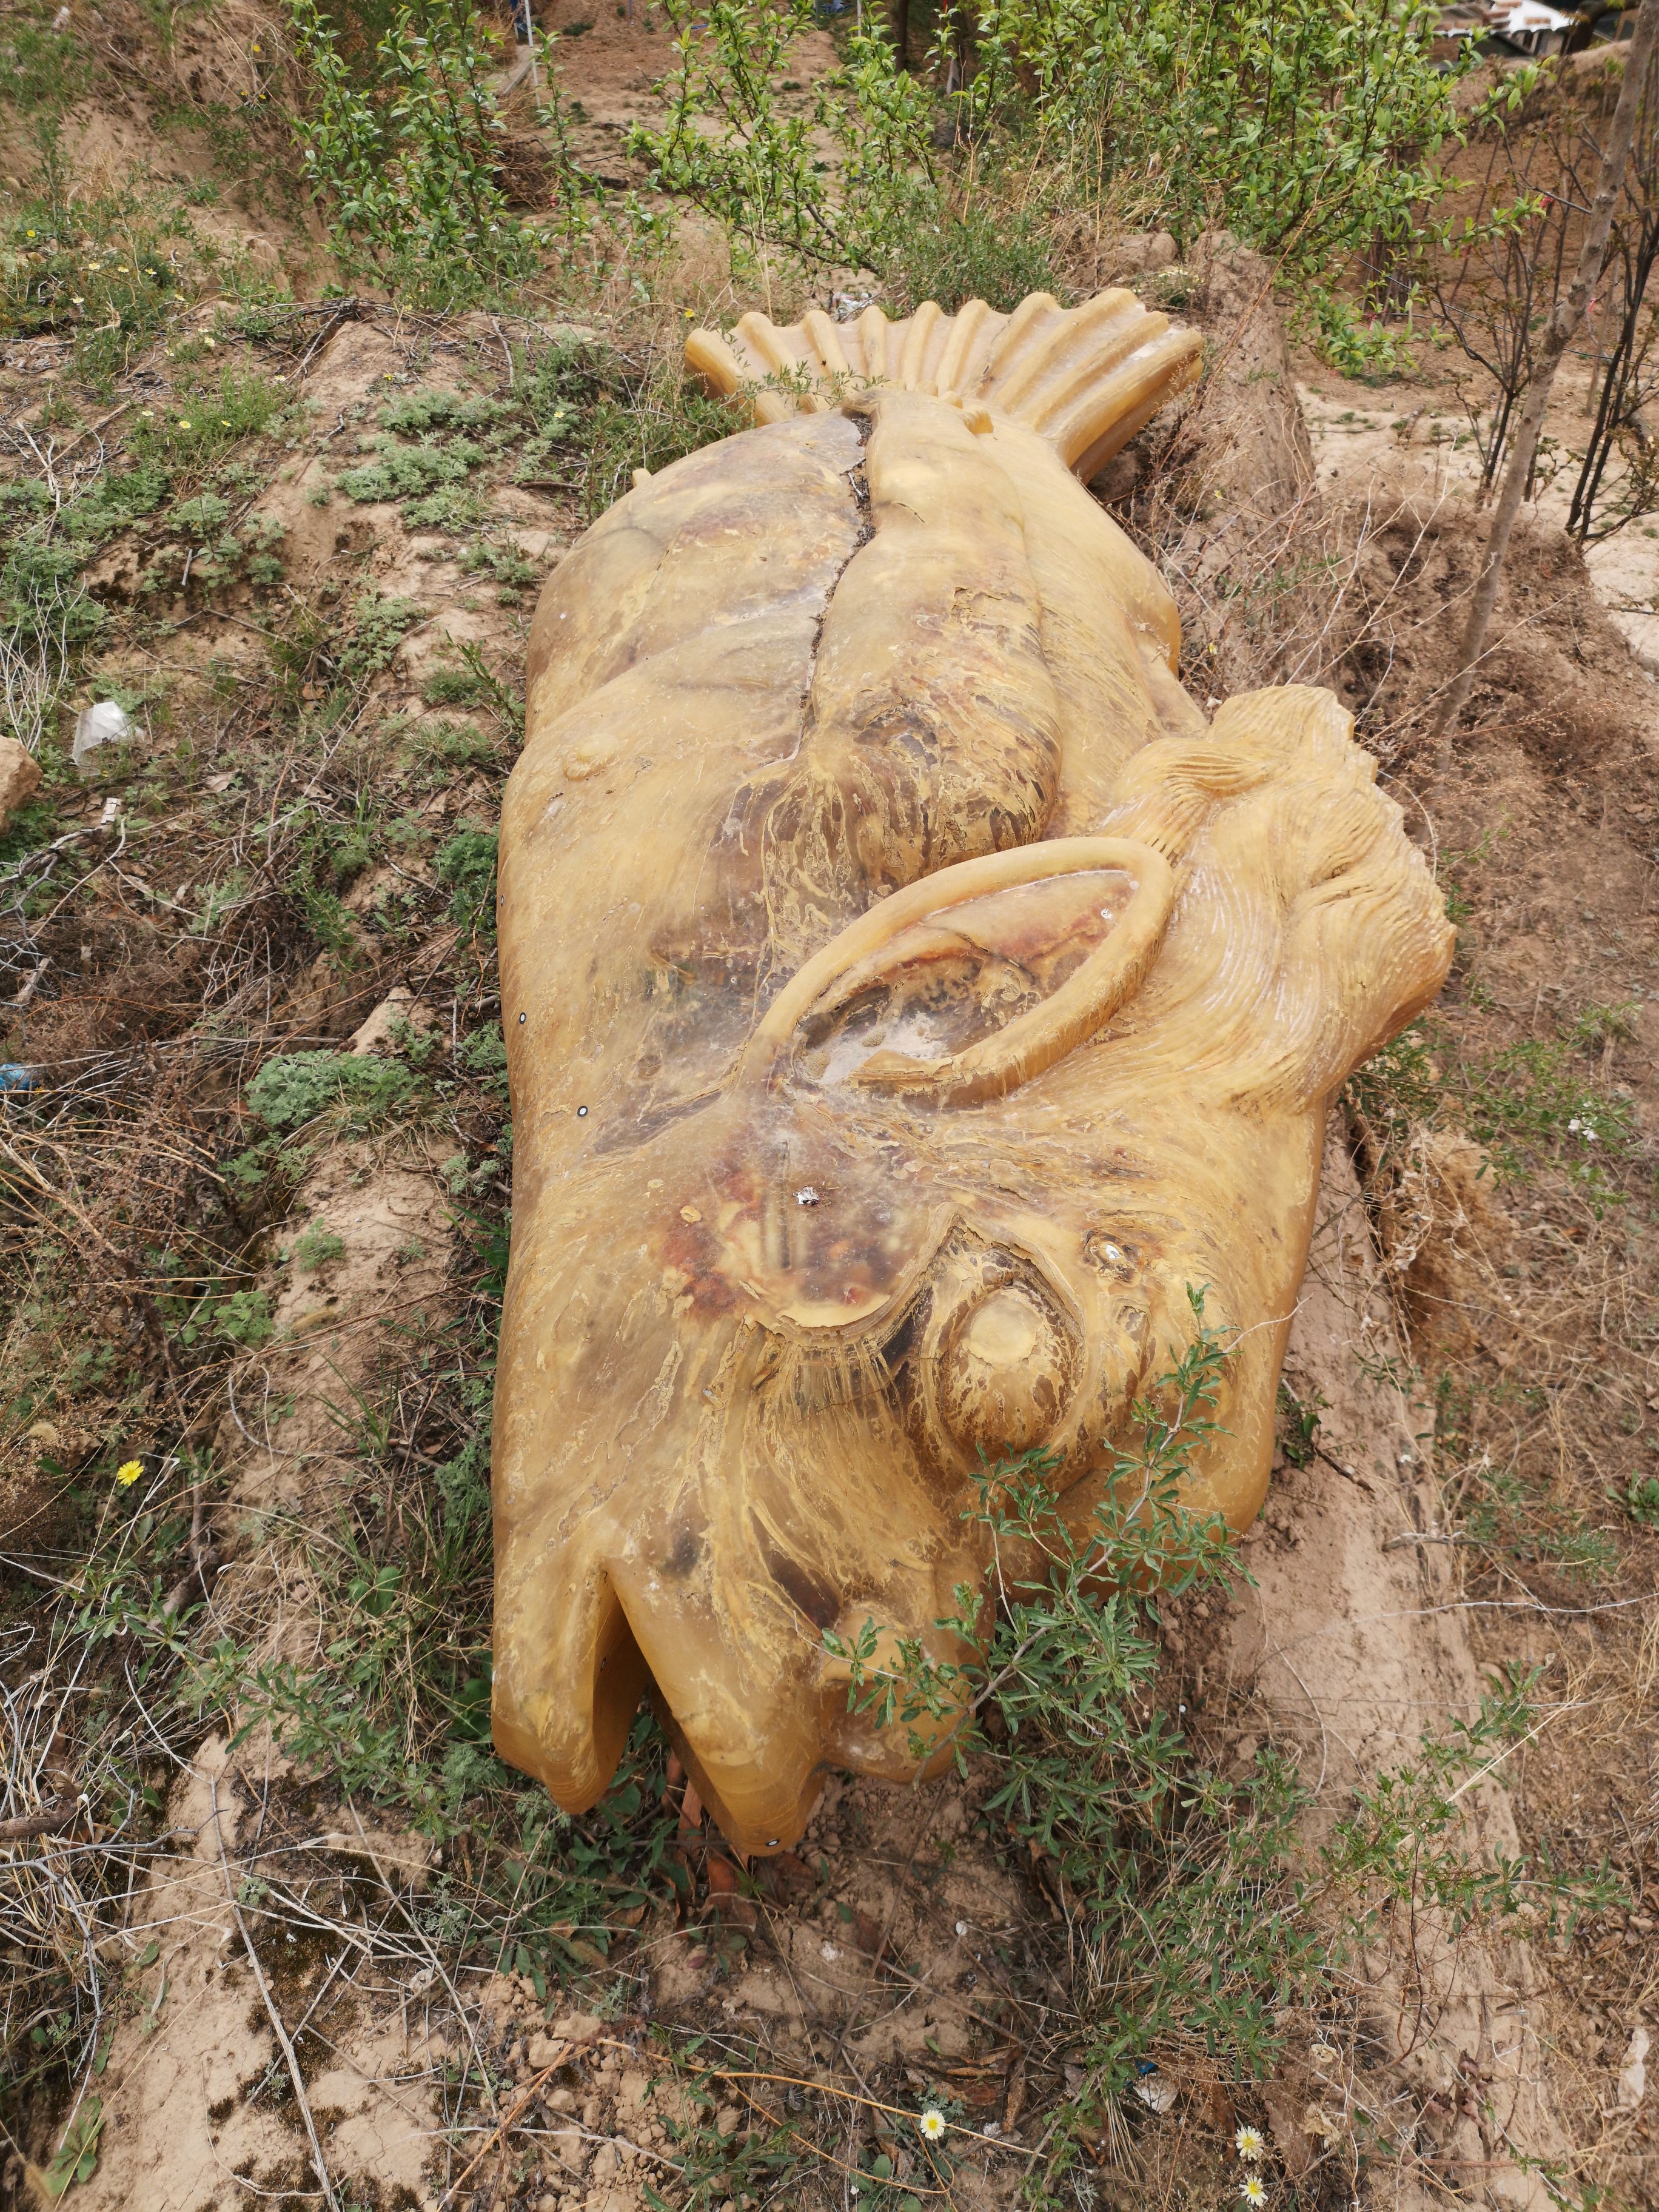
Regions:
<instances>
[{"instance_id":1,"label":"bulging oval eye carved on the yellow statue's head","mask_svg":"<svg viewBox=\"0 0 1659 2212\"><path fill-rule=\"evenodd\" d=\"M1077 1336L1037 1283L1004 1283L969 1307L938 1360L938 1411L969 1458L1044 1444L1071 1402Z\"/></svg>"}]
</instances>

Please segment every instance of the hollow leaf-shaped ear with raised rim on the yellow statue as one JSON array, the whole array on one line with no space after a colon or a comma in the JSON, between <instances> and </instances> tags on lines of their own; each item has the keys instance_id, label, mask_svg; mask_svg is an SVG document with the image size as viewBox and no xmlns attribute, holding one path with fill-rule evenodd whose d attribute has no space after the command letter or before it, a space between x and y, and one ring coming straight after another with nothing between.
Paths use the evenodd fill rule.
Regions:
<instances>
[{"instance_id":1,"label":"hollow leaf-shaped ear with raised rim on the yellow statue","mask_svg":"<svg viewBox=\"0 0 1659 2212\"><path fill-rule=\"evenodd\" d=\"M1135 838L1051 838L883 898L799 971L745 1055L940 1106L1002 1097L1135 995L1175 872Z\"/></svg>"}]
</instances>

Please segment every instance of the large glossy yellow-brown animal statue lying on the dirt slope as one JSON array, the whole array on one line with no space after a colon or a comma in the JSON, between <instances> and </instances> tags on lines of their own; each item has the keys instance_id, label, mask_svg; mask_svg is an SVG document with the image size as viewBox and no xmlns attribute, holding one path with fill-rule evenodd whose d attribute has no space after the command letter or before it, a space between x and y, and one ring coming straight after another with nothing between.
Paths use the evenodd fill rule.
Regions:
<instances>
[{"instance_id":1,"label":"large glossy yellow-brown animal statue lying on the dirt slope","mask_svg":"<svg viewBox=\"0 0 1659 2212\"><path fill-rule=\"evenodd\" d=\"M495 1745L591 1805L655 1686L770 1849L907 1772L823 1632L936 1639L982 1462L1086 1520L1188 1285L1239 1332L1190 1504L1256 1513L1327 1102L1451 933L1336 699L1208 721L1079 482L1194 334L1106 292L688 358L759 427L549 582L502 814Z\"/></svg>"}]
</instances>

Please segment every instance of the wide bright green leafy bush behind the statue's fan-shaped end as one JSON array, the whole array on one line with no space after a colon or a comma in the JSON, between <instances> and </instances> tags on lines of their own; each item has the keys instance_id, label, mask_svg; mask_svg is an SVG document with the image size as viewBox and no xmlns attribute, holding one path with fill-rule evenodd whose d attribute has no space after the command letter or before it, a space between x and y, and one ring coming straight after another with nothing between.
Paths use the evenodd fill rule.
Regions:
<instances>
[{"instance_id":1,"label":"wide bright green leafy bush behind the statue's fan-shaped end","mask_svg":"<svg viewBox=\"0 0 1659 2212\"><path fill-rule=\"evenodd\" d=\"M1029 217L998 223L995 192L987 208L1009 173L1037 206L1110 204L1183 246L1234 230L1301 281L1314 319L1343 323L1349 349L1365 334L1327 279L1425 237L1436 155L1458 137L1453 86L1473 60L1436 64L1431 0L987 0L940 15L933 62L953 111L940 133L929 77L874 29L847 40L810 108L790 106L812 0L668 11L668 113L633 146L739 250L872 268L911 301L962 288L1009 299L1046 259ZM975 148L956 184L940 139Z\"/></svg>"}]
</instances>

